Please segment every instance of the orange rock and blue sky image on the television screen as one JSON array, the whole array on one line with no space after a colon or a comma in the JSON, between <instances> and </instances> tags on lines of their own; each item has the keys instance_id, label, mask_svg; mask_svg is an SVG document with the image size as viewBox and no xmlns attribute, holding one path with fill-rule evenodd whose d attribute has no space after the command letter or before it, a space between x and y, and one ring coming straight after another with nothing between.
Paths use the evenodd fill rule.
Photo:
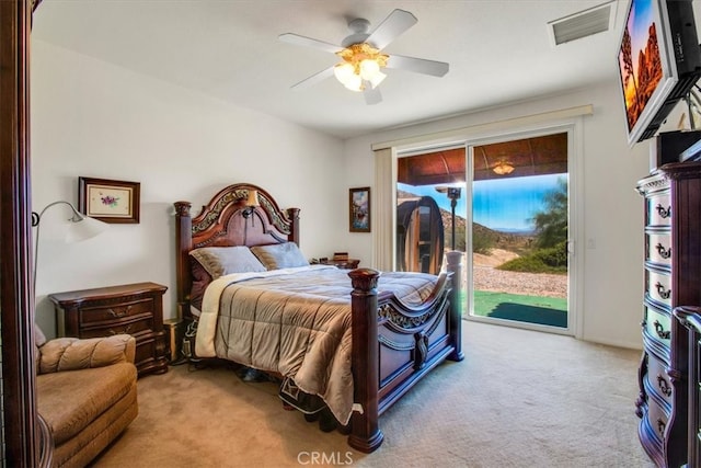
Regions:
<instances>
[{"instance_id":1,"label":"orange rock and blue sky image on the television screen","mask_svg":"<svg viewBox=\"0 0 701 468\"><path fill-rule=\"evenodd\" d=\"M618 59L630 132L663 78L651 0L633 0Z\"/></svg>"}]
</instances>

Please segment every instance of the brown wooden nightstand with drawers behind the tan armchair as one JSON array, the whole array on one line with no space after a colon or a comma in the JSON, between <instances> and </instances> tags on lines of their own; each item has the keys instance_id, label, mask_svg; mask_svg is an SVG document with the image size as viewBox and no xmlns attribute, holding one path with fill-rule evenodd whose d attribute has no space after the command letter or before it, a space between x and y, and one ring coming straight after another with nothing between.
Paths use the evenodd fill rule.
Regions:
<instances>
[{"instance_id":1,"label":"brown wooden nightstand with drawers behind the tan armchair","mask_svg":"<svg viewBox=\"0 0 701 468\"><path fill-rule=\"evenodd\" d=\"M136 283L51 294L58 336L95 338L128 333L136 338L139 377L168 372L163 294L168 287Z\"/></svg>"}]
</instances>

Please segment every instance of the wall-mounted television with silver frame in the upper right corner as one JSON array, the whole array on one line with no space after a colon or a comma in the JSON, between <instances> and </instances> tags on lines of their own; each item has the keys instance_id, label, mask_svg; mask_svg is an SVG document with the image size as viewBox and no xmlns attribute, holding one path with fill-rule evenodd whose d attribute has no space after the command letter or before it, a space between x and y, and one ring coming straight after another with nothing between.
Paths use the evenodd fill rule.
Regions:
<instances>
[{"instance_id":1,"label":"wall-mounted television with silver frame in the upper right corner","mask_svg":"<svg viewBox=\"0 0 701 468\"><path fill-rule=\"evenodd\" d=\"M618 67L628 142L655 135L701 78L701 46L691 0L631 0Z\"/></svg>"}]
</instances>

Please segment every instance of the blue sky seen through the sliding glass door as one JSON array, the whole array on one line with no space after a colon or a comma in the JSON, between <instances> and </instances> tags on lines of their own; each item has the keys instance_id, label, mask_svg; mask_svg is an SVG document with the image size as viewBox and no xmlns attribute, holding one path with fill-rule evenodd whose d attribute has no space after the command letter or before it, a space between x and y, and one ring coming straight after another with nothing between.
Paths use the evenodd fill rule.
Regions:
<instances>
[{"instance_id":1,"label":"blue sky seen through the sliding glass door","mask_svg":"<svg viewBox=\"0 0 701 468\"><path fill-rule=\"evenodd\" d=\"M558 186L558 179L561 176L566 176L566 174L474 182L472 219L474 222L495 230L528 230L532 227L528 219L536 212L543 209L543 196ZM438 206L450 212L450 201L445 194L436 191L436 185L398 184L398 187L416 195L430 196ZM456 206L456 216L463 218L467 214L464 190L463 187L462 196Z\"/></svg>"}]
</instances>

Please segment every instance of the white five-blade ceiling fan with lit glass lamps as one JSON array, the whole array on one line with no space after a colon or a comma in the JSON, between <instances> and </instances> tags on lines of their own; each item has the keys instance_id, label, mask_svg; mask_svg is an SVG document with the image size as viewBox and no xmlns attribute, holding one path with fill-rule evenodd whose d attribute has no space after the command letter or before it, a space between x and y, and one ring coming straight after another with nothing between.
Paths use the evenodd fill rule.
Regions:
<instances>
[{"instance_id":1,"label":"white five-blade ceiling fan with lit glass lamps","mask_svg":"<svg viewBox=\"0 0 701 468\"><path fill-rule=\"evenodd\" d=\"M445 61L382 54L384 47L417 21L416 16L407 11L394 10L375 31L369 32L370 22L358 18L348 22L348 28L353 34L344 38L340 46L299 34L280 34L279 39L288 44L313 47L341 57L341 62L294 84L292 89L308 88L335 76L347 89L363 92L366 103L377 104L382 101L378 85L386 77L383 68L443 77L449 68Z\"/></svg>"}]
</instances>

